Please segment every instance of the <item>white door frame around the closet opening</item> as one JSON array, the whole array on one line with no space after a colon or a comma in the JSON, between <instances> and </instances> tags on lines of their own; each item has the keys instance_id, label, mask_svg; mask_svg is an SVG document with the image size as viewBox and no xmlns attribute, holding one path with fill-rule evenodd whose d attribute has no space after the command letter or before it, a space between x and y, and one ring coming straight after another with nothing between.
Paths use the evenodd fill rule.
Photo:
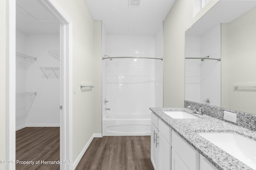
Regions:
<instances>
[{"instance_id":1,"label":"white door frame around the closet opening","mask_svg":"<svg viewBox=\"0 0 256 170\"><path fill-rule=\"evenodd\" d=\"M60 22L60 164L61 170L72 170L72 20L55 0L38 0ZM7 0L7 75L6 75L6 160L16 160L16 0ZM64 164L63 161L69 163ZM8 164L15 170L15 164Z\"/></svg>"}]
</instances>

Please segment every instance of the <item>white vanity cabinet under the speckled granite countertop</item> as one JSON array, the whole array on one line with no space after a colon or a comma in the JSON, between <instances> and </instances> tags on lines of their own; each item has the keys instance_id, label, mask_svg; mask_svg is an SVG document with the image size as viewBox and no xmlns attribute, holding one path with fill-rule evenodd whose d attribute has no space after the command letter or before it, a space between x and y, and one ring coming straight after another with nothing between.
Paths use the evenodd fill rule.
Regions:
<instances>
[{"instance_id":1,"label":"white vanity cabinet under the speckled granite countertop","mask_svg":"<svg viewBox=\"0 0 256 170\"><path fill-rule=\"evenodd\" d=\"M151 113L151 161L155 170L217 170L154 113Z\"/></svg>"}]
</instances>

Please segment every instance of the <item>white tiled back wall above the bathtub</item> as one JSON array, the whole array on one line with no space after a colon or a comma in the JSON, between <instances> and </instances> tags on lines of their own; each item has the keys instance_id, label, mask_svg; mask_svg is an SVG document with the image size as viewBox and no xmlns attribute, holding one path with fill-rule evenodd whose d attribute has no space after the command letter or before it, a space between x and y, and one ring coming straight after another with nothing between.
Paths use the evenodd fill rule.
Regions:
<instances>
[{"instance_id":1,"label":"white tiled back wall above the bathtub","mask_svg":"<svg viewBox=\"0 0 256 170\"><path fill-rule=\"evenodd\" d=\"M155 57L154 36L107 35L107 55ZM108 113L150 113L155 105L155 60L105 59Z\"/></svg>"}]
</instances>

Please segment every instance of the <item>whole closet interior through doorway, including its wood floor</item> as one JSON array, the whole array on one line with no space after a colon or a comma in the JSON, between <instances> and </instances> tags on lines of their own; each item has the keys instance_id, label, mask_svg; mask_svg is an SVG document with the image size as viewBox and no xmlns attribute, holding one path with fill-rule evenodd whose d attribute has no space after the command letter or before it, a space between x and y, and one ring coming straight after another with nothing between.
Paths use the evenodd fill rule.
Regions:
<instances>
[{"instance_id":1,"label":"whole closet interior through doorway, including its wood floor","mask_svg":"<svg viewBox=\"0 0 256 170\"><path fill-rule=\"evenodd\" d=\"M40 1L16 1L16 160L60 160L60 24ZM60 169L16 164L16 169Z\"/></svg>"}]
</instances>

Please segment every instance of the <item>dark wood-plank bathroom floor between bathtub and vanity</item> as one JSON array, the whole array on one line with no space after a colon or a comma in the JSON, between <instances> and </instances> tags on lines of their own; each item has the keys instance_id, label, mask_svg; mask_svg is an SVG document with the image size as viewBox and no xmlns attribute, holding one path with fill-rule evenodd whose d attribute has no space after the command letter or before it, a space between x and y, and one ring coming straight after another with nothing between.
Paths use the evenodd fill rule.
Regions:
<instances>
[{"instance_id":1,"label":"dark wood-plank bathroom floor between bathtub and vanity","mask_svg":"<svg viewBox=\"0 0 256 170\"><path fill-rule=\"evenodd\" d=\"M76 170L154 170L150 136L94 138Z\"/></svg>"}]
</instances>

